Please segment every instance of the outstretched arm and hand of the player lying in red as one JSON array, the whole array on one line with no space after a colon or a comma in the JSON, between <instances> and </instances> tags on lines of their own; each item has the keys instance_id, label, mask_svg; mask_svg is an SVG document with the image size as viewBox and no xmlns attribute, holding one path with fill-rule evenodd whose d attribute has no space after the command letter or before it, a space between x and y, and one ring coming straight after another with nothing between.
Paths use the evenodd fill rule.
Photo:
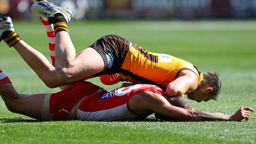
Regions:
<instances>
[{"instance_id":1,"label":"outstretched arm and hand of the player lying in red","mask_svg":"<svg viewBox=\"0 0 256 144\"><path fill-rule=\"evenodd\" d=\"M206 111L189 110L171 105L163 96L152 92L147 92L148 96L143 97L143 105L155 113L168 116L177 121L241 121L249 120L250 113L253 111L249 107L240 108L234 115L219 115Z\"/></svg>"}]
</instances>

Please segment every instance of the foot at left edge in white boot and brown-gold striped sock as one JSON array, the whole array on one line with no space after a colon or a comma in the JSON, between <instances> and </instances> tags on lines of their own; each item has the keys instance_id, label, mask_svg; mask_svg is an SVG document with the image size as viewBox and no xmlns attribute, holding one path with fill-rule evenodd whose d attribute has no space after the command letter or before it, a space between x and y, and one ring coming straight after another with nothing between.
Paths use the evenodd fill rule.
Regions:
<instances>
[{"instance_id":1,"label":"foot at left edge in white boot and brown-gold striped sock","mask_svg":"<svg viewBox=\"0 0 256 144\"><path fill-rule=\"evenodd\" d=\"M13 22L10 17L0 18L0 41L4 40L9 47L19 42L21 38L13 28Z\"/></svg>"}]
</instances>

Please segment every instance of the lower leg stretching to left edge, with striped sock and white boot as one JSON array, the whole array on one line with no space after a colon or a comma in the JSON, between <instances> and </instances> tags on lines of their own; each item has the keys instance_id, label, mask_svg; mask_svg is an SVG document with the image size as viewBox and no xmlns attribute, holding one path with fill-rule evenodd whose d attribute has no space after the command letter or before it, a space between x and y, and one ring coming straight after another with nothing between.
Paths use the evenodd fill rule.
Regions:
<instances>
[{"instance_id":1,"label":"lower leg stretching to left edge, with striped sock and white boot","mask_svg":"<svg viewBox=\"0 0 256 144\"><path fill-rule=\"evenodd\" d=\"M43 54L21 40L13 28L10 17L0 19L0 40L1 39L3 39L9 47L13 46L15 50L19 52L24 61L26 61L48 87L59 87L66 84L58 79L54 66L49 63Z\"/></svg>"}]
</instances>

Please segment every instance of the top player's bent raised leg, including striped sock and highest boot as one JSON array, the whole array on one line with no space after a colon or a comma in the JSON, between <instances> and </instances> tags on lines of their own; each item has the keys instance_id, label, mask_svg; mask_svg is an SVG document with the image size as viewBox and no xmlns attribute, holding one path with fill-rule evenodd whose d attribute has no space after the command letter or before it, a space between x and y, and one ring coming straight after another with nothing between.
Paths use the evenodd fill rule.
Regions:
<instances>
[{"instance_id":1,"label":"top player's bent raised leg, including striped sock and highest boot","mask_svg":"<svg viewBox=\"0 0 256 144\"><path fill-rule=\"evenodd\" d=\"M46 9L54 9L55 11ZM49 22L54 24L56 73L61 81L67 83L78 81L104 70L104 61L93 48L87 48L76 55L67 28L67 23L72 19L71 10L47 2L38 2L32 6L32 11L41 17L48 18Z\"/></svg>"}]
</instances>

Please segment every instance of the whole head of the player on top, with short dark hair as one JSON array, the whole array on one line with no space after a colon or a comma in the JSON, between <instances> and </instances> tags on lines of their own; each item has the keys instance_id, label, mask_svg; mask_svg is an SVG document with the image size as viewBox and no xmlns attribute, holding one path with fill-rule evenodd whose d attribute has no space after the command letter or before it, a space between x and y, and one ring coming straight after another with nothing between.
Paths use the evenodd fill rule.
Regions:
<instances>
[{"instance_id":1,"label":"whole head of the player on top, with short dark hair","mask_svg":"<svg viewBox=\"0 0 256 144\"><path fill-rule=\"evenodd\" d=\"M197 102L217 100L221 91L221 78L216 72L204 72L204 78L197 89L187 94L187 98Z\"/></svg>"}]
</instances>

